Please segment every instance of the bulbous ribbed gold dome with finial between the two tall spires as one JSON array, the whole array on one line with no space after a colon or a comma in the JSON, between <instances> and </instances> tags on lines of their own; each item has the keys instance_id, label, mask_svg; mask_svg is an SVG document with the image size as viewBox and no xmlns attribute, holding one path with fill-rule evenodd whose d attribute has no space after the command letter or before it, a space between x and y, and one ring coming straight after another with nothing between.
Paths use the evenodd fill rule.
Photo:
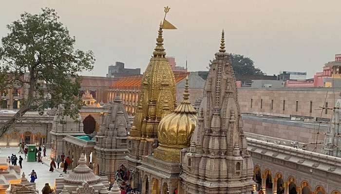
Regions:
<instances>
[{"instance_id":1,"label":"bulbous ribbed gold dome with finial between the two tall spires","mask_svg":"<svg viewBox=\"0 0 341 194\"><path fill-rule=\"evenodd\" d=\"M189 102L188 77L183 95L181 104L159 123L157 129L159 146L154 150L157 159L179 162L180 150L189 146L190 137L196 126L197 113Z\"/></svg>"}]
</instances>

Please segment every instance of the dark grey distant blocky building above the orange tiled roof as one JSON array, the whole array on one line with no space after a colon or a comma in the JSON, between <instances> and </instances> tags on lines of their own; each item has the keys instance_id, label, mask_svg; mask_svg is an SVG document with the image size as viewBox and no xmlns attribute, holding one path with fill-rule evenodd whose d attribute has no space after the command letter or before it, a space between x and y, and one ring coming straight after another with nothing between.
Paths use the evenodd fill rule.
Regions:
<instances>
[{"instance_id":1,"label":"dark grey distant blocky building above the orange tiled roof","mask_svg":"<svg viewBox=\"0 0 341 194\"><path fill-rule=\"evenodd\" d=\"M122 62L115 62L115 65L110 65L108 67L108 78L121 78L121 77L128 77L128 76L136 76L141 74L141 69L130 69L124 68L124 63Z\"/></svg>"}]
</instances>

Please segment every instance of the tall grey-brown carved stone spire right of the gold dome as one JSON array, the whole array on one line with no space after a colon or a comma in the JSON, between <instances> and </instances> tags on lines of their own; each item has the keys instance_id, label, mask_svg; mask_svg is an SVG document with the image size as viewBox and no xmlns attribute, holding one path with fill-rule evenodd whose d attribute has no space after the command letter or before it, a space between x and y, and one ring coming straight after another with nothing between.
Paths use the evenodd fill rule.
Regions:
<instances>
[{"instance_id":1,"label":"tall grey-brown carved stone spire right of the gold dome","mask_svg":"<svg viewBox=\"0 0 341 194\"><path fill-rule=\"evenodd\" d=\"M181 153L181 187L188 194L250 194L254 183L235 77L224 42L223 31L190 147Z\"/></svg>"}]
</instances>

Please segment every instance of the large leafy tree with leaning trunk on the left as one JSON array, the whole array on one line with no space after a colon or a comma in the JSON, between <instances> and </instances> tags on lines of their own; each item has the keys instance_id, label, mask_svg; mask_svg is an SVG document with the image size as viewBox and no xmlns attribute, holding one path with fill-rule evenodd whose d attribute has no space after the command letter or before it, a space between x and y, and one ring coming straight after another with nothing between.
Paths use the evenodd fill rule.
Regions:
<instances>
[{"instance_id":1,"label":"large leafy tree with leaning trunk on the left","mask_svg":"<svg viewBox=\"0 0 341 194\"><path fill-rule=\"evenodd\" d=\"M1 39L0 91L25 85L28 92L19 111L0 128L0 137L32 106L41 111L64 106L64 114L76 118L82 105L78 95L83 70L95 63L91 50L75 49L75 37L58 21L54 9L39 14L23 13L7 25Z\"/></svg>"}]
</instances>

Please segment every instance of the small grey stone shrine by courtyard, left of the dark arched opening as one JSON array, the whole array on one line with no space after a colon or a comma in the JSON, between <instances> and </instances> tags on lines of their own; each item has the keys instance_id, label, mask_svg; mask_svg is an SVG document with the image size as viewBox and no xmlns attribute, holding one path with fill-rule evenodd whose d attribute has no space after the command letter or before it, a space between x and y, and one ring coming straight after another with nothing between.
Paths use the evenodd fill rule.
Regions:
<instances>
[{"instance_id":1,"label":"small grey stone shrine by courtyard, left of the dark arched opening","mask_svg":"<svg viewBox=\"0 0 341 194\"><path fill-rule=\"evenodd\" d=\"M51 158L57 159L57 156L65 154L63 138L66 135L85 135L83 131L83 123L80 115L77 120L68 115L63 115L63 107L59 106L58 111L53 119L51 134Z\"/></svg>"}]
</instances>

